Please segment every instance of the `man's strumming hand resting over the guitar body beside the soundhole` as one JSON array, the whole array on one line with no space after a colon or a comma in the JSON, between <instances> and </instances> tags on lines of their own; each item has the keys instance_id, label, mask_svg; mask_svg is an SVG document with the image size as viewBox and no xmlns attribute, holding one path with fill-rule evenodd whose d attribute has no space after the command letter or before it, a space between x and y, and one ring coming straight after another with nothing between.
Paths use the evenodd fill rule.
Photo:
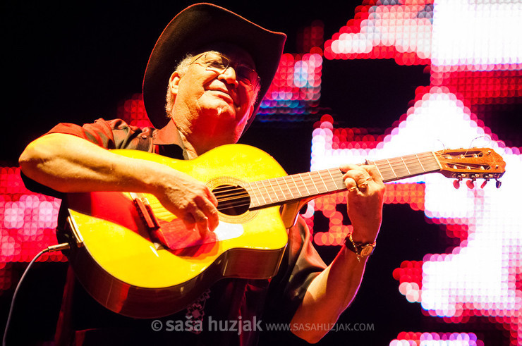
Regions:
<instances>
[{"instance_id":1,"label":"man's strumming hand resting over the guitar body beside the soundhole","mask_svg":"<svg viewBox=\"0 0 522 346\"><path fill-rule=\"evenodd\" d=\"M217 228L217 199L210 189L190 175L176 172L164 179L155 193L159 202L185 223L186 228L198 228L201 237Z\"/></svg>"}]
</instances>

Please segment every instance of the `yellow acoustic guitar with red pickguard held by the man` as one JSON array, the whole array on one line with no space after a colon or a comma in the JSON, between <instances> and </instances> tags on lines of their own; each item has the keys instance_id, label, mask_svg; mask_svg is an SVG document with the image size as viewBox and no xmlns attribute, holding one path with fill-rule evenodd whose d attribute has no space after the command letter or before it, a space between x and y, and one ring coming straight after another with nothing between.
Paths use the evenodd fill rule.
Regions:
<instances>
[{"instance_id":1,"label":"yellow acoustic guitar with red pickguard held by the man","mask_svg":"<svg viewBox=\"0 0 522 346\"><path fill-rule=\"evenodd\" d=\"M68 194L68 259L76 276L104 307L136 318L173 314L220 278L271 278L286 247L286 228L295 223L301 206L346 189L338 168L286 175L272 156L241 144L189 161L113 152L187 173L206 183L219 201L219 226L202 239L151 194ZM384 182L432 172L457 180L490 180L500 178L505 168L491 149L424 152L367 163L377 166Z\"/></svg>"}]
</instances>

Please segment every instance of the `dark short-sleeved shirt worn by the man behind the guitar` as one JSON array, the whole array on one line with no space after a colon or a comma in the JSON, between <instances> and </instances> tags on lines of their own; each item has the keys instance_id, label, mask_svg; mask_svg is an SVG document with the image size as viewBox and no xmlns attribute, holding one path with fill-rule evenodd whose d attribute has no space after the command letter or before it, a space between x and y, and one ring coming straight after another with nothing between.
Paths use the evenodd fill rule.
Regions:
<instances>
[{"instance_id":1,"label":"dark short-sleeved shirt worn by the man behind the guitar","mask_svg":"<svg viewBox=\"0 0 522 346\"><path fill-rule=\"evenodd\" d=\"M75 135L106 149L136 149L186 159L180 138L171 144L159 144L156 129L133 127L121 119L99 119L83 126L61 123L49 133ZM63 197L23 178L30 190ZM63 224L64 211L62 208L59 228ZM60 233L58 229L57 235ZM158 319L162 322L162 330L157 332L152 330L154 319L132 319L102 307L85 292L69 270L56 338L59 344L65 345L157 345L163 342L170 345L173 342L174 345L255 345L259 333L268 333L266 323L291 321L308 285L324 268L324 262L310 242L305 222L298 218L296 225L289 229L289 243L277 276L271 280L219 280L186 309ZM190 329L184 322L196 320L201 321L201 331L199 328L178 330L180 321L183 321L183 328ZM241 333L219 331L226 328L226 323L230 328L231 321L239 320L243 323ZM244 327L245 321L251 322L251 328ZM210 326L214 331L209 330ZM261 330L257 328L259 326Z\"/></svg>"}]
</instances>

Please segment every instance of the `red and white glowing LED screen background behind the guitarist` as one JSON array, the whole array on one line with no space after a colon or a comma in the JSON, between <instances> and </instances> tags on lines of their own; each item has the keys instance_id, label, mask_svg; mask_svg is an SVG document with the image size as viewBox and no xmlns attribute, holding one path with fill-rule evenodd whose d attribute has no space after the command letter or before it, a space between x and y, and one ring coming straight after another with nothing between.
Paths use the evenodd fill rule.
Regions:
<instances>
[{"instance_id":1,"label":"red and white glowing LED screen background behind the guitarist","mask_svg":"<svg viewBox=\"0 0 522 346\"><path fill-rule=\"evenodd\" d=\"M506 161L506 174L498 190L494 181L484 188L480 188L482 182L475 182L471 189L462 183L456 190L451 180L438 174L387 185L376 252L360 295L340 320L374 323L375 330L330 333L322 342L520 344L522 219L518 196L522 189L517 178L522 173L522 135L516 121L522 96L522 2L352 2L344 11L329 4L317 13L298 7L276 10L274 6L274 17L279 20L272 18L270 27L288 32L289 42L260 114L243 141L273 154L289 173L444 147L491 147ZM247 9L232 6L248 17ZM138 16L135 11L130 13ZM284 24L281 18L286 18ZM88 23L87 18L80 19ZM150 36L154 37L152 32ZM86 56L77 56L76 63L94 60L98 68L104 68L99 66L110 49L94 38L87 43L85 48L71 49ZM99 48L97 44L104 50L92 51ZM148 46L140 46L138 40L136 44L138 55L146 60ZM66 46L58 53L71 57ZM42 63L47 67L72 64L45 56ZM83 66L75 68L82 70ZM359 70L353 72L354 68ZM357 73L358 78L348 80L347 73ZM56 70L43 74L51 85L71 82L72 86L90 78L71 78ZM394 76L395 85L383 92L380 84L387 82L387 75ZM101 84L102 75L91 78L96 80L91 85L107 91ZM121 78L122 85L126 78L130 77ZM128 90L126 94L100 92L94 99L64 102L61 111L43 106L47 118L31 118L40 128L28 126L27 135L17 138L23 137L20 142L27 143L57 121L92 121L97 111L107 109L133 125L147 125L139 79L121 88ZM354 88L364 89L361 97L354 96L356 91L345 92ZM400 91L395 89L406 91L396 97ZM25 101L34 113L35 99ZM92 109L97 101L112 106ZM56 105L54 102L51 104ZM18 107L23 108L20 102ZM84 114L76 121L66 114L81 113L84 108L95 115ZM376 109L382 113L375 114ZM53 111L59 116L49 116ZM367 117L360 116L365 112ZM24 123L23 119L9 121L18 126ZM250 133L255 131L265 135ZM272 140L272 135L266 136L267 131L293 140L282 142L285 146L277 140L268 143L267 137ZM290 159L288 151L302 153ZM6 153L4 159L0 171L2 311L28 261L40 249L56 244L54 227L60 203L26 190L13 154ZM315 245L326 260L334 256L350 229L344 203L344 194L334 194L315 199L303 210ZM49 254L40 261L42 266L61 265L66 259Z\"/></svg>"}]
</instances>

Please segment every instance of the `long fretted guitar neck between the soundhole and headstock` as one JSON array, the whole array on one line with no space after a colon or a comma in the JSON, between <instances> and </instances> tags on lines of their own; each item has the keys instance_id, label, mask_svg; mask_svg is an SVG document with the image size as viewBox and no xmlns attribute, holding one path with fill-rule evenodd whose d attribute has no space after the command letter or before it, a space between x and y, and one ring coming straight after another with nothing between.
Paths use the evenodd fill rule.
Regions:
<instances>
[{"instance_id":1,"label":"long fretted guitar neck between the soundhole and headstock","mask_svg":"<svg viewBox=\"0 0 522 346\"><path fill-rule=\"evenodd\" d=\"M394 159L366 161L375 165L384 183L415 175L441 171L434 152L399 156ZM339 168L259 180L245 186L250 194L250 209L279 205L346 190Z\"/></svg>"}]
</instances>

